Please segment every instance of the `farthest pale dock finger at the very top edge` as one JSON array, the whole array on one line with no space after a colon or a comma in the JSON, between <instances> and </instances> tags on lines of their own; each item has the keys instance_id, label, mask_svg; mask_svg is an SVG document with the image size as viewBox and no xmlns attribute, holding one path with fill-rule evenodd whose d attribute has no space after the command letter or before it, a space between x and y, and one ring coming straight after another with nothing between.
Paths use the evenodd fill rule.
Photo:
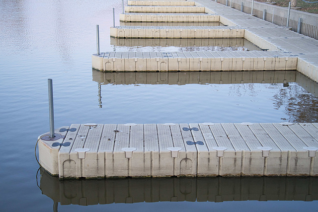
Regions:
<instances>
[{"instance_id":1,"label":"farthest pale dock finger at the very top edge","mask_svg":"<svg viewBox=\"0 0 318 212\"><path fill-rule=\"evenodd\" d=\"M143 5L143 6L194 6L194 1L180 1L180 0L128 0L128 5Z\"/></svg>"}]
</instances>

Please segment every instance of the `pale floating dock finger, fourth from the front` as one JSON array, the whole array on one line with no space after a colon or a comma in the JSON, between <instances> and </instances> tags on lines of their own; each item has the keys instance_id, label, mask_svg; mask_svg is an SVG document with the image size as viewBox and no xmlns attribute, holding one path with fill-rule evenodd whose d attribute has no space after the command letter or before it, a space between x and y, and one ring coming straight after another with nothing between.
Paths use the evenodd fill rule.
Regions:
<instances>
[{"instance_id":1,"label":"pale floating dock finger, fourth from the front","mask_svg":"<svg viewBox=\"0 0 318 212\"><path fill-rule=\"evenodd\" d=\"M219 22L220 16L204 13L121 13L119 20L124 22Z\"/></svg>"}]
</instances>

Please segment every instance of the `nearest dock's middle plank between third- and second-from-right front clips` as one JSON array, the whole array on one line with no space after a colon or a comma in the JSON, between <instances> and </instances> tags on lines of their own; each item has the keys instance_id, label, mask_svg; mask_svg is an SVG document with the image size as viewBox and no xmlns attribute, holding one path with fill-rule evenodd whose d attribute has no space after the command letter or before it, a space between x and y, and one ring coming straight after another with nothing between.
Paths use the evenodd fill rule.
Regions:
<instances>
[{"instance_id":1,"label":"nearest dock's middle plank between third- and second-from-right front clips","mask_svg":"<svg viewBox=\"0 0 318 212\"><path fill-rule=\"evenodd\" d=\"M244 150L249 151L250 149L246 145L245 141L242 139L242 137L239 134L239 131L236 129L234 124L222 124L228 138L232 142L234 148L238 151Z\"/></svg>"}]
</instances>

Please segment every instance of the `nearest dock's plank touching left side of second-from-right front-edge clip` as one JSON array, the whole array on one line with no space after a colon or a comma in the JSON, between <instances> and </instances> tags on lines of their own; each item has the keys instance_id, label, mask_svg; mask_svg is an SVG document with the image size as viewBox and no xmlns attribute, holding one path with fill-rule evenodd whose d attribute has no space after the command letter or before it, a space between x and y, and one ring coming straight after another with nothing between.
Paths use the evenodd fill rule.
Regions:
<instances>
[{"instance_id":1,"label":"nearest dock's plank touching left side of second-from-right front-edge clip","mask_svg":"<svg viewBox=\"0 0 318 212\"><path fill-rule=\"evenodd\" d=\"M241 124L234 124L235 127L238 129L238 132L242 139L246 142L246 145L251 151L259 150L257 147L262 146L262 144L258 141L258 139L255 137L253 132L249 129L249 126L247 125L241 125Z\"/></svg>"}]
</instances>

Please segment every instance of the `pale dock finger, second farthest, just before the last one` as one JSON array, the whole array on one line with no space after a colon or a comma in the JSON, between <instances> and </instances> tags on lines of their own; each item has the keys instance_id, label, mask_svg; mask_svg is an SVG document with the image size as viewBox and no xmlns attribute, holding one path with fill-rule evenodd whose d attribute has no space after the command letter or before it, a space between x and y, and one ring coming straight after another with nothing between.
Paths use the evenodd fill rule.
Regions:
<instances>
[{"instance_id":1,"label":"pale dock finger, second farthest, just before the last one","mask_svg":"<svg viewBox=\"0 0 318 212\"><path fill-rule=\"evenodd\" d=\"M125 6L125 12L205 13L204 6Z\"/></svg>"}]
</instances>

